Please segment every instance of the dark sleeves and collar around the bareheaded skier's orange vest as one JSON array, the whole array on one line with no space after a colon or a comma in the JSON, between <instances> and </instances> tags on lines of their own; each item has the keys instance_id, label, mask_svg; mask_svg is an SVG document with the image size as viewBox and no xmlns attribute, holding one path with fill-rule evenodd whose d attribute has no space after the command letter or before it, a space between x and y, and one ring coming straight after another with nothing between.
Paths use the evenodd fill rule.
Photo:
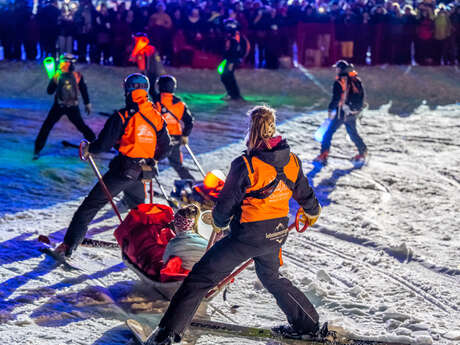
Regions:
<instances>
[{"instance_id":1,"label":"dark sleeves and collar around the bareheaded skier's orange vest","mask_svg":"<svg viewBox=\"0 0 460 345\"><path fill-rule=\"evenodd\" d=\"M289 162L290 147L285 140L272 150L258 151L255 156L265 163L275 167L283 167ZM292 197L308 214L319 213L319 203L313 189L303 174L302 164L299 161L299 174L295 181ZM246 189L251 185L248 169L242 156L236 158L230 167L224 188L222 189L216 206L212 212L214 222L219 227L225 227L232 216L239 218L241 203L246 195Z\"/></svg>"}]
</instances>

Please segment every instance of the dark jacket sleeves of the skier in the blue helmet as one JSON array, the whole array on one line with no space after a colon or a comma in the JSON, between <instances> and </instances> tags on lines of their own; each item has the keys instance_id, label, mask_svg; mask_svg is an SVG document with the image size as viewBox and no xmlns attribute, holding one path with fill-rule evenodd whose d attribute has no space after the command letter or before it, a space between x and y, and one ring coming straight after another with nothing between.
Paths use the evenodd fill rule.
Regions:
<instances>
[{"instance_id":1,"label":"dark jacket sleeves of the skier in the blue helmet","mask_svg":"<svg viewBox=\"0 0 460 345\"><path fill-rule=\"evenodd\" d=\"M92 142L89 146L90 153L107 152L112 147L117 148L118 142L123 136L126 124L123 124L121 117L118 113L124 114L126 111L131 113L136 112L136 109L123 108L115 112L105 123L96 141ZM169 137L166 123L163 128L157 132L157 146L155 150L154 159L159 161L169 155L171 138Z\"/></svg>"}]
</instances>

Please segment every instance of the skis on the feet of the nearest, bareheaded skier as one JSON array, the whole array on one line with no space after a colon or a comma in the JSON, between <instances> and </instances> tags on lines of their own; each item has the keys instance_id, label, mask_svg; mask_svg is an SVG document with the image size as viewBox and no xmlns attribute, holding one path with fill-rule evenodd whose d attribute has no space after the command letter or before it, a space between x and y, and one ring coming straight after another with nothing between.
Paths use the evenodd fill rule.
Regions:
<instances>
[{"instance_id":1,"label":"skis on the feet of the nearest, bareheaded skier","mask_svg":"<svg viewBox=\"0 0 460 345\"><path fill-rule=\"evenodd\" d=\"M153 330L150 326L142 324L136 320L127 320L126 325L133 332L137 341L145 345ZM272 340L284 344L292 345L407 345L403 343L376 341L376 340L360 340L345 337L339 337L334 332L330 332L325 339L293 339L282 336L273 332L271 329L262 327L246 327L235 324L215 322L210 320L194 319L190 327L198 332L206 334L216 334L220 336L232 336L238 338L251 338L254 340Z\"/></svg>"}]
</instances>

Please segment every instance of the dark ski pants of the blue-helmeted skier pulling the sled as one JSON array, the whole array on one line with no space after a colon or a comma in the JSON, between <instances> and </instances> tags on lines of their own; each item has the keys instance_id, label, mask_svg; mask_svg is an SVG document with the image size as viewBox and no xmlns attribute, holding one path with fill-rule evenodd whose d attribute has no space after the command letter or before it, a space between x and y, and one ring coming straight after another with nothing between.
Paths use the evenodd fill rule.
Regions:
<instances>
[{"instance_id":1,"label":"dark ski pants of the blue-helmeted skier pulling the sled","mask_svg":"<svg viewBox=\"0 0 460 345\"><path fill-rule=\"evenodd\" d=\"M127 195L127 200L133 204L128 205L135 208L137 205L144 203L145 191L144 184L140 180L132 180L121 174L121 164L118 158L111 162L109 171L103 176L103 181L110 191L112 197L117 196L120 192ZM109 200L98 182L83 203L73 215L72 221L64 237L64 243L70 248L70 252L75 250L85 238L88 231L89 223L94 219L97 212L107 204Z\"/></svg>"}]
</instances>

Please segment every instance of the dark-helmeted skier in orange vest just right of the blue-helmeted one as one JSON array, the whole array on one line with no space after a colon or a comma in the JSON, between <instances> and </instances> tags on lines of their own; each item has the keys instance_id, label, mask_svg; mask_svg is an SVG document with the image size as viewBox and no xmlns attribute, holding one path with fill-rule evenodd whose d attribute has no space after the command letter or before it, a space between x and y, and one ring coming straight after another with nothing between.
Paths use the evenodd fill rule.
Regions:
<instances>
[{"instance_id":1,"label":"dark-helmeted skier in orange vest just right of the blue-helmeted one","mask_svg":"<svg viewBox=\"0 0 460 345\"><path fill-rule=\"evenodd\" d=\"M174 92L177 81L172 75L162 75L157 80L159 94L155 97L155 106L168 126L172 149L168 156L169 164L176 170L182 180L195 180L184 167L181 145L188 144L188 137L193 129L193 116L187 105Z\"/></svg>"}]
</instances>

